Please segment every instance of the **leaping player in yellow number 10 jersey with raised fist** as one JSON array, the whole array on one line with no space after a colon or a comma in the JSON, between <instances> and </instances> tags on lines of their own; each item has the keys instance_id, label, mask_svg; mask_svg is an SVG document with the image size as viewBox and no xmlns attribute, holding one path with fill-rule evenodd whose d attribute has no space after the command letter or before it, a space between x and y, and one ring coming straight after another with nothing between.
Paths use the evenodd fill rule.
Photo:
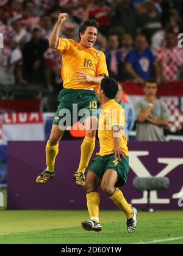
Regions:
<instances>
[{"instance_id":1,"label":"leaping player in yellow number 10 jersey with raised fist","mask_svg":"<svg viewBox=\"0 0 183 256\"><path fill-rule=\"evenodd\" d=\"M98 22L90 19L84 21L79 27L80 42L77 43L71 39L59 38L59 31L66 18L67 13L60 13L49 39L49 46L62 54L63 90L59 93L60 104L46 145L46 169L37 177L36 182L44 184L54 177L54 164L64 130L82 119L86 136L81 145L81 159L74 179L77 185L84 186L84 172L95 148L98 98L94 89L104 76L108 76L108 71L104 53L93 48L98 35ZM70 114L66 111L70 111ZM70 116L71 120L68 122Z\"/></svg>"}]
</instances>

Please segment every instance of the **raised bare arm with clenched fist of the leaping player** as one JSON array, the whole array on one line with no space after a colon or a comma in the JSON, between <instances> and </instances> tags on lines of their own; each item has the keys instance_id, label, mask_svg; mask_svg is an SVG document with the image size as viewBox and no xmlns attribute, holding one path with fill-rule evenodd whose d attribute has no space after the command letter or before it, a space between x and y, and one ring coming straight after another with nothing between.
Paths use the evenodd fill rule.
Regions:
<instances>
[{"instance_id":1,"label":"raised bare arm with clenched fist of the leaping player","mask_svg":"<svg viewBox=\"0 0 183 256\"><path fill-rule=\"evenodd\" d=\"M62 27L63 22L68 18L67 13L60 13L57 23L54 26L54 29L49 38L49 47L56 49L57 42L59 39L59 31Z\"/></svg>"}]
</instances>

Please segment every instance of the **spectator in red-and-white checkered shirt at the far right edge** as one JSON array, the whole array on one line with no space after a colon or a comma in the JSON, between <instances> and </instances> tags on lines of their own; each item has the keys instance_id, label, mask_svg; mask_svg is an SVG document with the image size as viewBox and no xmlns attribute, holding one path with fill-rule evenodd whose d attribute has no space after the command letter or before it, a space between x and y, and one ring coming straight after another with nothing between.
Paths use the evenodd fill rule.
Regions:
<instances>
[{"instance_id":1,"label":"spectator in red-and-white checkered shirt at the far right edge","mask_svg":"<svg viewBox=\"0 0 183 256\"><path fill-rule=\"evenodd\" d=\"M157 49L156 59L162 83L180 80L183 73L183 49L178 47L178 36L172 29L166 32L165 47Z\"/></svg>"}]
</instances>

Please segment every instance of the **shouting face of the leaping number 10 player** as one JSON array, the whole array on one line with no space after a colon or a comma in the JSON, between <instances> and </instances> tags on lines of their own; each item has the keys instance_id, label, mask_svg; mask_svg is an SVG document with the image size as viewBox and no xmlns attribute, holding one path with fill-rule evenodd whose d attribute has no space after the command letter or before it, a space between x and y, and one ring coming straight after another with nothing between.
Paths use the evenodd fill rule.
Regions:
<instances>
[{"instance_id":1,"label":"shouting face of the leaping number 10 player","mask_svg":"<svg viewBox=\"0 0 183 256\"><path fill-rule=\"evenodd\" d=\"M97 38L98 30L96 27L87 27L85 32L80 34L81 36L81 45L90 48L93 47Z\"/></svg>"}]
</instances>

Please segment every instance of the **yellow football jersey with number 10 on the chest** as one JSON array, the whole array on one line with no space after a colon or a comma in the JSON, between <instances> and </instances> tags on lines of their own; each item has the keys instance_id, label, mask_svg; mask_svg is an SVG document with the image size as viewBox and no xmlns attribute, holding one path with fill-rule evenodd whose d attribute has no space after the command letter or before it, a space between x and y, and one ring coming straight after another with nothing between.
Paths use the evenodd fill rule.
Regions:
<instances>
[{"instance_id":1,"label":"yellow football jersey with number 10 on the chest","mask_svg":"<svg viewBox=\"0 0 183 256\"><path fill-rule=\"evenodd\" d=\"M90 76L108 76L106 57L102 51L93 47L85 48L75 40L59 38L57 50L62 53L63 87L67 89L94 88L96 84L79 84L76 72L79 70Z\"/></svg>"}]
</instances>

